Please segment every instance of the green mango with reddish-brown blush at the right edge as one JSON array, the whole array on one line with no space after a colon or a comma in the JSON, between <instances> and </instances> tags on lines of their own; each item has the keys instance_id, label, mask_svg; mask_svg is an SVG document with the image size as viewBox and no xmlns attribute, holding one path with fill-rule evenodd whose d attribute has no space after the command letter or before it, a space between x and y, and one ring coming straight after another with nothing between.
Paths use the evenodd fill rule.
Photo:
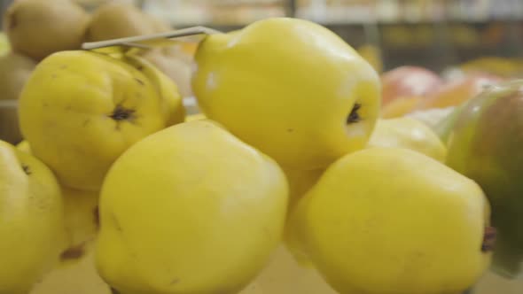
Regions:
<instances>
[{"instance_id":1,"label":"green mango with reddish-brown blush at the right edge","mask_svg":"<svg viewBox=\"0 0 523 294\"><path fill-rule=\"evenodd\" d=\"M485 89L454 114L446 163L487 194L497 229L492 269L513 278L523 261L523 80Z\"/></svg>"}]
</instances>

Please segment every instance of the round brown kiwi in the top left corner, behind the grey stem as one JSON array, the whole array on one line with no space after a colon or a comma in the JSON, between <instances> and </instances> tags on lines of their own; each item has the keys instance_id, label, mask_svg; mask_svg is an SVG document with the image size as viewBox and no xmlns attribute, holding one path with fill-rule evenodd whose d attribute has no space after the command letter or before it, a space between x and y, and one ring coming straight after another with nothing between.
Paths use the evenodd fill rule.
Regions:
<instances>
[{"instance_id":1,"label":"round brown kiwi in the top left corner, behind the grey stem","mask_svg":"<svg viewBox=\"0 0 523 294\"><path fill-rule=\"evenodd\" d=\"M80 49L90 16L68 0L15 1L5 12L12 50L41 60L59 50Z\"/></svg>"}]
</instances>

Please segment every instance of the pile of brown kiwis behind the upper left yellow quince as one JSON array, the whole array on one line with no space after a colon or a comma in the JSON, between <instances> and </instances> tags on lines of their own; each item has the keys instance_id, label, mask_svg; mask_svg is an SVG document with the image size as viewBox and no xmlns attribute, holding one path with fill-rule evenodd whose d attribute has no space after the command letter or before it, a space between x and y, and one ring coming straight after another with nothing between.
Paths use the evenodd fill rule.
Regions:
<instances>
[{"instance_id":1,"label":"pile of brown kiwis behind the upper left yellow quince","mask_svg":"<svg viewBox=\"0 0 523 294\"><path fill-rule=\"evenodd\" d=\"M44 58L63 50L80 50L84 42L161 33L171 30L132 4L121 1L17 0L4 13L0 32L0 139L17 142L16 101L29 75ZM81 5L81 4L82 5ZM181 43L144 50L141 56L191 95L193 45Z\"/></svg>"}]
</instances>

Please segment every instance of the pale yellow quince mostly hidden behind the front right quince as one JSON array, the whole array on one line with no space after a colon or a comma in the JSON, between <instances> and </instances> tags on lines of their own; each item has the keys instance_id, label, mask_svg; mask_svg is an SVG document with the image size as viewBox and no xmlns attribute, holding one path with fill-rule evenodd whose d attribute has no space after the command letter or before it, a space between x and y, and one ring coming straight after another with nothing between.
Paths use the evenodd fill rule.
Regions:
<instances>
[{"instance_id":1,"label":"pale yellow quince mostly hidden behind the front right quince","mask_svg":"<svg viewBox=\"0 0 523 294\"><path fill-rule=\"evenodd\" d=\"M440 137L425 123L408 117L378 120L367 147L407 148L440 162L447 157L447 147Z\"/></svg>"}]
</instances>

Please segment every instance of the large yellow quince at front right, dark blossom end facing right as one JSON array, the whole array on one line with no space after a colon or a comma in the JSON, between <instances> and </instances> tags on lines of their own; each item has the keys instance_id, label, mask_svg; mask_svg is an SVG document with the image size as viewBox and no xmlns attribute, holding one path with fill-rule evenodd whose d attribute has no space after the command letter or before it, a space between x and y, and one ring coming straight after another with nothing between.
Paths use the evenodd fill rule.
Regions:
<instances>
[{"instance_id":1,"label":"large yellow quince at front right, dark blossom end facing right","mask_svg":"<svg viewBox=\"0 0 523 294\"><path fill-rule=\"evenodd\" d=\"M491 259L480 187L415 151L373 148L330 166L293 213L301 246L343 294L457 294Z\"/></svg>"}]
</instances>

